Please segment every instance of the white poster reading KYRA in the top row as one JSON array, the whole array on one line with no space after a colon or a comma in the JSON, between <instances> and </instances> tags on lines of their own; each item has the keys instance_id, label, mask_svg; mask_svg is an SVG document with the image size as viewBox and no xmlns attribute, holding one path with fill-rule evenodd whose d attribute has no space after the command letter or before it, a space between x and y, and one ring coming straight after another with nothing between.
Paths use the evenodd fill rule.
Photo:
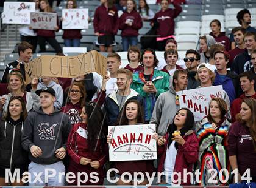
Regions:
<instances>
[{"instance_id":1,"label":"white poster reading KYRA in the top row","mask_svg":"<svg viewBox=\"0 0 256 188\"><path fill-rule=\"evenodd\" d=\"M62 29L87 29L88 8L62 9Z\"/></svg>"}]
</instances>

